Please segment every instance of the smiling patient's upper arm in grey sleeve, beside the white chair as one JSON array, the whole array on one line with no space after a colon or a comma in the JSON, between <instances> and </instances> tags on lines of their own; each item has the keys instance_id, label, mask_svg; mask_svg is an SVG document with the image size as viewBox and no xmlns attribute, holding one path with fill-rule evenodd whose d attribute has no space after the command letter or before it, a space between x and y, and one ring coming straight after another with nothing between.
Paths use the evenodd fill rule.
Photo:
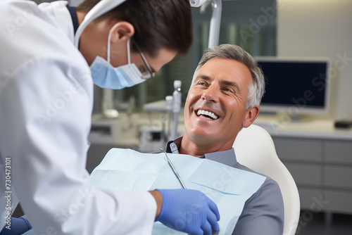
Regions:
<instances>
[{"instance_id":1,"label":"smiling patient's upper arm in grey sleeve, beside the white chair","mask_svg":"<svg viewBox=\"0 0 352 235\"><path fill-rule=\"evenodd\" d=\"M249 198L232 235L282 235L284 203L277 183L268 178Z\"/></svg>"}]
</instances>

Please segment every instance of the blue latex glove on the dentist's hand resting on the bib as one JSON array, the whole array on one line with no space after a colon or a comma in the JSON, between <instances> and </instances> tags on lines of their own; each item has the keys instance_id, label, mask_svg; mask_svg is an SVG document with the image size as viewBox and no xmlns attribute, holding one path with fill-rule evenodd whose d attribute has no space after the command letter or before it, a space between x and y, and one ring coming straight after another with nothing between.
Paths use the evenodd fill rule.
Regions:
<instances>
[{"instance_id":1,"label":"blue latex glove on the dentist's hand resting on the bib","mask_svg":"<svg viewBox=\"0 0 352 235\"><path fill-rule=\"evenodd\" d=\"M211 235L219 230L218 206L200 191L157 189L163 196L161 213L156 218L166 226L189 234Z\"/></svg>"}]
</instances>

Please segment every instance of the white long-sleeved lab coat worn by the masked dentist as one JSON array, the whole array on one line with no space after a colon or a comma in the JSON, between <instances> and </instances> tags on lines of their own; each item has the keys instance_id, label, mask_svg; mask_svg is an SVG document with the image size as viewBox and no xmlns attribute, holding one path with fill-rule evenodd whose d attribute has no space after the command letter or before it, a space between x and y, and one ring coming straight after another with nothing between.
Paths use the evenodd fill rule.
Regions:
<instances>
[{"instance_id":1,"label":"white long-sleeved lab coat worn by the masked dentist","mask_svg":"<svg viewBox=\"0 0 352 235\"><path fill-rule=\"evenodd\" d=\"M93 82L66 2L1 0L0 28L0 229L13 191L38 235L151 234L150 193L89 183Z\"/></svg>"}]
</instances>

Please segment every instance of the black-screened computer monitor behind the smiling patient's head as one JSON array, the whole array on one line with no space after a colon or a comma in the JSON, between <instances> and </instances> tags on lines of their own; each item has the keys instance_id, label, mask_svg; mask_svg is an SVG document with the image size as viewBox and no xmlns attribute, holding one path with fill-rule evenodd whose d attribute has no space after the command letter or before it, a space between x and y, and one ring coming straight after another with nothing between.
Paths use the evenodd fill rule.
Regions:
<instances>
[{"instance_id":1,"label":"black-screened computer monitor behind the smiling patient's head","mask_svg":"<svg viewBox=\"0 0 352 235\"><path fill-rule=\"evenodd\" d=\"M327 58L256 57L267 84L260 111L325 115L329 103Z\"/></svg>"}]
</instances>

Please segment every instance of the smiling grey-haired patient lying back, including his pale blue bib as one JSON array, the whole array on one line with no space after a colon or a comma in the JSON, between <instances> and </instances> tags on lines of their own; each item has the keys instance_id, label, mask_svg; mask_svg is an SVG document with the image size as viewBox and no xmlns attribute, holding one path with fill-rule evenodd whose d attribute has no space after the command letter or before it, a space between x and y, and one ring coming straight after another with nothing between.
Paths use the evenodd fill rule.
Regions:
<instances>
[{"instance_id":1,"label":"smiling grey-haired patient lying back, including his pale blue bib","mask_svg":"<svg viewBox=\"0 0 352 235\"><path fill-rule=\"evenodd\" d=\"M279 186L237 163L232 148L239 130L256 120L264 88L263 72L239 46L207 49L185 103L186 132L166 147L184 186L202 191L217 203L220 234L282 235L284 205ZM130 149L111 149L90 179L97 187L120 191L183 190L164 154ZM195 206L173 227L181 227L196 213ZM180 233L156 223L153 234Z\"/></svg>"}]
</instances>

